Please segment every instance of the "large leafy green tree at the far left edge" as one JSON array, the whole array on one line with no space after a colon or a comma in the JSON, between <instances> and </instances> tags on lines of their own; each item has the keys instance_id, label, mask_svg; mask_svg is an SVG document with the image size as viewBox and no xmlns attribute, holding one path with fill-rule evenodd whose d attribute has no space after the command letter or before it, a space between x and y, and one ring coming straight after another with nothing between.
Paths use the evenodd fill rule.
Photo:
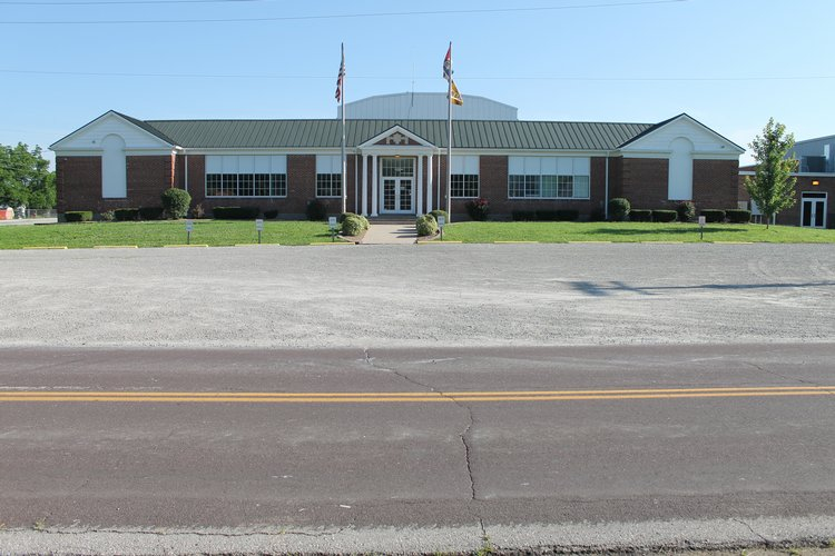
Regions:
<instances>
[{"instance_id":1,"label":"large leafy green tree at the far left edge","mask_svg":"<svg viewBox=\"0 0 835 556\"><path fill-rule=\"evenodd\" d=\"M49 209L56 206L55 172L40 147L0 145L0 205Z\"/></svg>"}]
</instances>

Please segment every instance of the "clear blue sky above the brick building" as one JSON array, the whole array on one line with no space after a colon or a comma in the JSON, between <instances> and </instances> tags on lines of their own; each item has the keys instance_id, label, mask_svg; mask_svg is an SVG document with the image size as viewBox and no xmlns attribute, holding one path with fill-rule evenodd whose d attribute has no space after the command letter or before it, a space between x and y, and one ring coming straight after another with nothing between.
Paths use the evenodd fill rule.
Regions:
<instances>
[{"instance_id":1,"label":"clear blue sky above the brick building","mask_svg":"<svg viewBox=\"0 0 835 556\"><path fill-rule=\"evenodd\" d=\"M835 133L832 0L138 1L0 0L0 143L46 149L109 109L334 118L342 41L348 101L445 91L451 40L464 99L524 120L687 112L746 148L769 117ZM194 21L213 19L264 20Z\"/></svg>"}]
</instances>

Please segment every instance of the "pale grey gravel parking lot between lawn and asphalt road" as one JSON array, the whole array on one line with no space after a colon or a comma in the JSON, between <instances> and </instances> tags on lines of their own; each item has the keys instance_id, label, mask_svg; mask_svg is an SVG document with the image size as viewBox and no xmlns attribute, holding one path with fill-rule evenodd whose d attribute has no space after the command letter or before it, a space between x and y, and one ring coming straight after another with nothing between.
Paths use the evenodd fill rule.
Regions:
<instances>
[{"instance_id":1,"label":"pale grey gravel parking lot between lawn and asphalt road","mask_svg":"<svg viewBox=\"0 0 835 556\"><path fill-rule=\"evenodd\" d=\"M2 251L3 346L832 340L831 245Z\"/></svg>"}]
</instances>

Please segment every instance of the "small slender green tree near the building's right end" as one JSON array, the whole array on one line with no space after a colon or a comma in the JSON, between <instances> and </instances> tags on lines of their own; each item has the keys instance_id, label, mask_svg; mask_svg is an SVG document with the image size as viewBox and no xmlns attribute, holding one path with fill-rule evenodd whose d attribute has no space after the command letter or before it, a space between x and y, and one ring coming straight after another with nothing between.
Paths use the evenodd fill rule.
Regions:
<instances>
[{"instance_id":1,"label":"small slender green tree near the building's right end","mask_svg":"<svg viewBox=\"0 0 835 556\"><path fill-rule=\"evenodd\" d=\"M797 160L786 158L794 146L794 135L786 135L786 126L775 122L774 118L768 119L763 135L755 137L750 143L757 161L757 172L754 179L746 176L745 189L766 217L766 229L774 215L797 202L797 179L792 177L792 172L797 170Z\"/></svg>"}]
</instances>

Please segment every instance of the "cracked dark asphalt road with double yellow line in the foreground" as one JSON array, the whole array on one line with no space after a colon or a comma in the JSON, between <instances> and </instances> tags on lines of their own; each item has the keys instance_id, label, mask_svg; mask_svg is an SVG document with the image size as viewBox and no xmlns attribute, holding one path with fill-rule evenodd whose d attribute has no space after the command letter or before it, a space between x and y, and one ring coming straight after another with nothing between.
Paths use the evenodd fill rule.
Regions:
<instances>
[{"instance_id":1,"label":"cracked dark asphalt road with double yellow line in the foreground","mask_svg":"<svg viewBox=\"0 0 835 556\"><path fill-rule=\"evenodd\" d=\"M153 532L138 552L176 532L301 552L821 542L834 355L7 348L0 552L89 532Z\"/></svg>"}]
</instances>

